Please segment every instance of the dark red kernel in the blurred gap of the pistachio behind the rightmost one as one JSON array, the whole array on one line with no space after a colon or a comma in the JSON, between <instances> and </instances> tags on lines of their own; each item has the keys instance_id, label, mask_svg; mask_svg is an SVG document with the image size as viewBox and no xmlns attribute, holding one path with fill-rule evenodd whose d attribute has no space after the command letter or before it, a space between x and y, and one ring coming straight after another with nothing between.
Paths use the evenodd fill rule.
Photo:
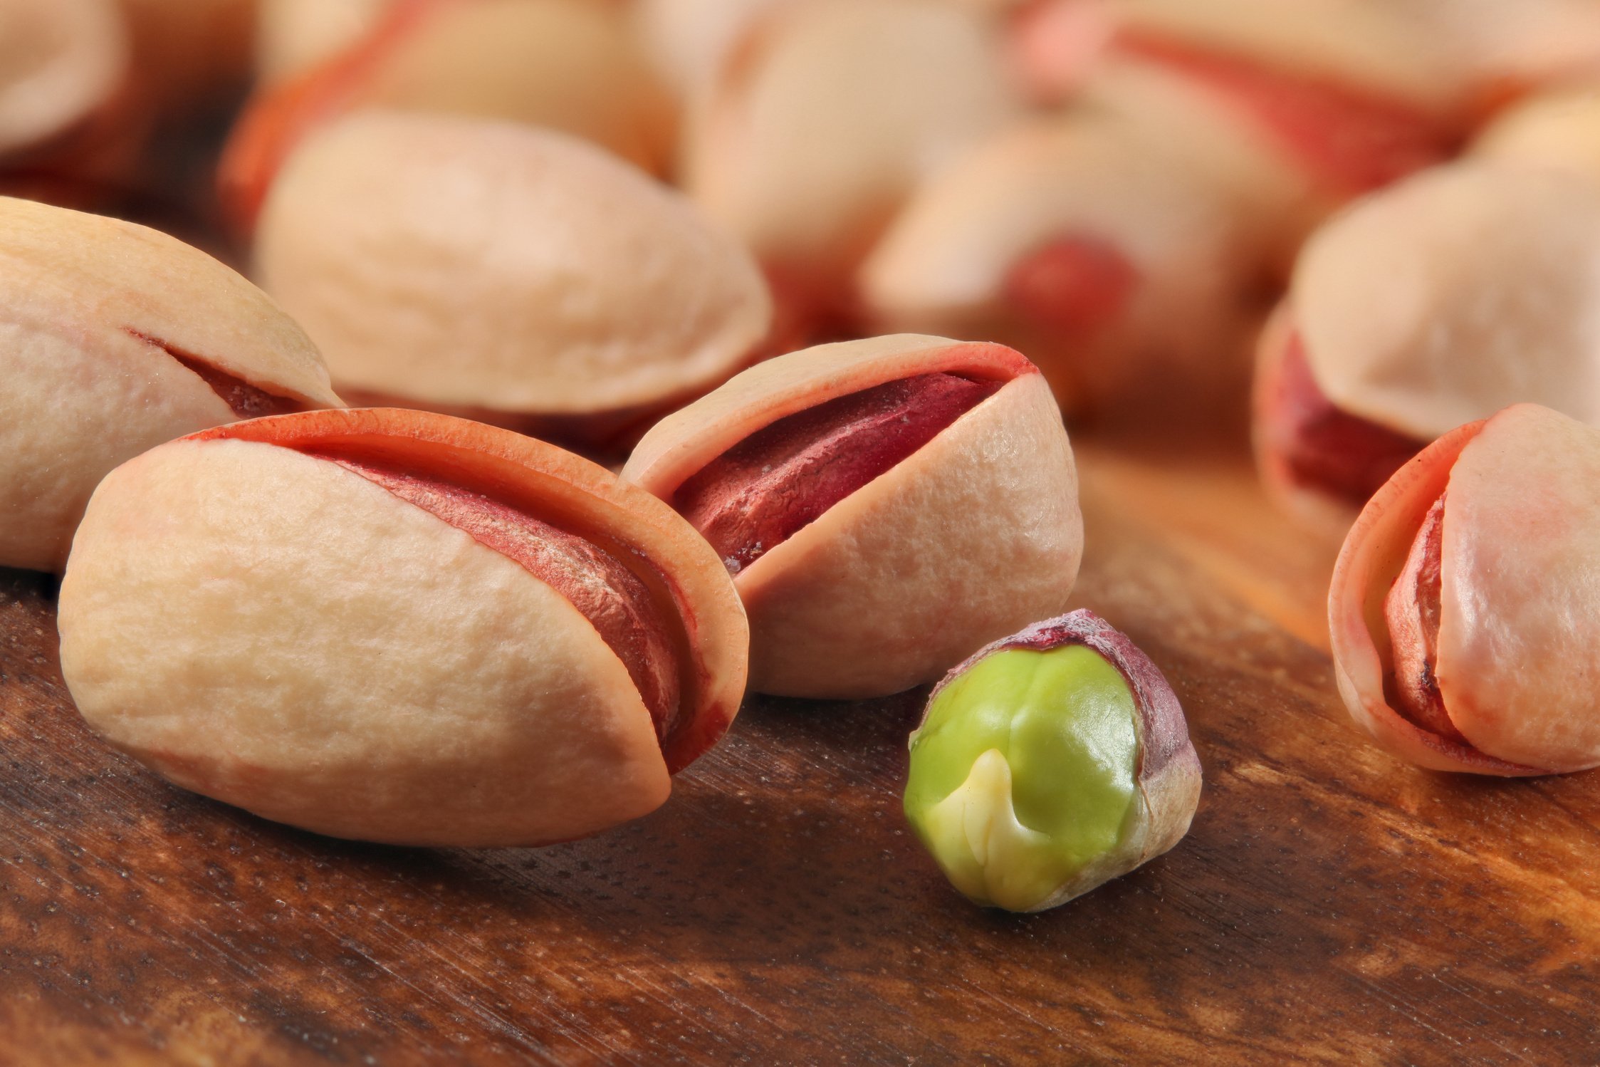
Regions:
<instances>
[{"instance_id":1,"label":"dark red kernel in the blurred gap of the pistachio behind the rightmost one","mask_svg":"<svg viewBox=\"0 0 1600 1067\"><path fill-rule=\"evenodd\" d=\"M1290 336L1270 389L1262 437L1294 483L1357 507L1427 446L1336 408L1312 378L1299 333Z\"/></svg>"}]
</instances>

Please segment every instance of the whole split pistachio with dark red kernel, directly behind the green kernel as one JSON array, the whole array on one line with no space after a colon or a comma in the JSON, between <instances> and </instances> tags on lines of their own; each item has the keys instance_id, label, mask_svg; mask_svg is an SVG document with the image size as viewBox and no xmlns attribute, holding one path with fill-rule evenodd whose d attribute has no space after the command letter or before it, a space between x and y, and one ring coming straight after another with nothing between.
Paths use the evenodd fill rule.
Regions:
<instances>
[{"instance_id":1,"label":"whole split pistachio with dark red kernel, directly behind the green kernel","mask_svg":"<svg viewBox=\"0 0 1600 1067\"><path fill-rule=\"evenodd\" d=\"M651 429L622 477L706 534L750 616L750 685L867 697L1059 613L1077 474L1038 370L888 336L760 363Z\"/></svg>"}]
</instances>

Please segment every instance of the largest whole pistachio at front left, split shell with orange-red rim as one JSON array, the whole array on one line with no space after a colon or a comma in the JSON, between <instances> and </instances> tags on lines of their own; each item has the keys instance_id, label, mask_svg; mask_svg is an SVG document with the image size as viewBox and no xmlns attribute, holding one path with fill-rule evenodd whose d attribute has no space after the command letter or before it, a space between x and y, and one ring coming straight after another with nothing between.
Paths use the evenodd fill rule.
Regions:
<instances>
[{"instance_id":1,"label":"largest whole pistachio at front left, split shell with orange-red rim","mask_svg":"<svg viewBox=\"0 0 1600 1067\"><path fill-rule=\"evenodd\" d=\"M259 816L538 845L646 814L726 729L747 630L670 509L552 445L358 410L155 448L61 584L88 723Z\"/></svg>"}]
</instances>

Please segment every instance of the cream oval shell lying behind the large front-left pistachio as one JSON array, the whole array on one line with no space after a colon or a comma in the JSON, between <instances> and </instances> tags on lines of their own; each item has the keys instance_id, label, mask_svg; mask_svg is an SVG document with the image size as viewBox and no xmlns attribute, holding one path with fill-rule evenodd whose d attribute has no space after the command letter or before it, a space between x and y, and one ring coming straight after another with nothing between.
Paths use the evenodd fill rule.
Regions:
<instances>
[{"instance_id":1,"label":"cream oval shell lying behind the large front-left pistachio","mask_svg":"<svg viewBox=\"0 0 1600 1067\"><path fill-rule=\"evenodd\" d=\"M565 134L365 112L307 141L258 272L336 381L586 414L709 389L765 338L749 256L682 197Z\"/></svg>"}]
</instances>

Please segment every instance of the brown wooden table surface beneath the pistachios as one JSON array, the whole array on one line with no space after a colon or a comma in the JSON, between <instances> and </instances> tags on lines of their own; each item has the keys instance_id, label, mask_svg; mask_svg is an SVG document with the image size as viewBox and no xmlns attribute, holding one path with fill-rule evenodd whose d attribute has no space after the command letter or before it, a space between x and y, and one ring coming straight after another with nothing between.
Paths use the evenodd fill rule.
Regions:
<instances>
[{"instance_id":1,"label":"brown wooden table surface beneath the pistachios","mask_svg":"<svg viewBox=\"0 0 1600 1067\"><path fill-rule=\"evenodd\" d=\"M109 752L53 584L0 573L0 1062L1600 1061L1600 777L1386 757L1318 648L1336 545L1240 450L1080 458L1080 601L1166 672L1205 797L1173 853L1032 917L909 835L920 693L754 697L595 840L347 845Z\"/></svg>"}]
</instances>

